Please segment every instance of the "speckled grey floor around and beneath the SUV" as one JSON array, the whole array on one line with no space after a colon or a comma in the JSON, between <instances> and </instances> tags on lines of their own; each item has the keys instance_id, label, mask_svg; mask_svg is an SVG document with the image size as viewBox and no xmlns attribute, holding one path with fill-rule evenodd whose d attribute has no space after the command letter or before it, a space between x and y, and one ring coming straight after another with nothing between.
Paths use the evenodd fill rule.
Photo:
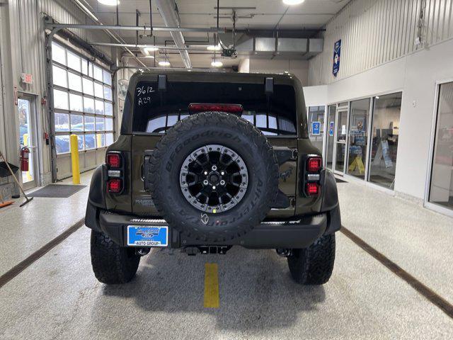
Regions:
<instances>
[{"instance_id":1,"label":"speckled grey floor around and beneath the SUV","mask_svg":"<svg viewBox=\"0 0 453 340\"><path fill-rule=\"evenodd\" d=\"M345 227L453 302L451 219L355 183L338 188ZM72 205L35 198L33 223L21 217L24 225L16 207L0 211L8 235L0 275L79 220L87 193L65 200ZM453 337L453 319L341 233L333 276L321 287L293 283L275 251L239 247L195 257L156 249L131 283L106 286L91 271L89 234L82 227L0 288L0 339ZM207 262L219 266L218 309L203 307Z\"/></svg>"}]
</instances>

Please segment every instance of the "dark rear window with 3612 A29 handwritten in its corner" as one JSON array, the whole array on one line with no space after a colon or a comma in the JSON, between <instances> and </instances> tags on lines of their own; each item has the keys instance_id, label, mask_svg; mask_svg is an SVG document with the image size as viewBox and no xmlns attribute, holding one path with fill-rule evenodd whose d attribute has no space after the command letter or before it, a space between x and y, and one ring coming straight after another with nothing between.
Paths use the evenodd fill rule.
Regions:
<instances>
[{"instance_id":1,"label":"dark rear window with 3612 A29 handwritten in its corner","mask_svg":"<svg viewBox=\"0 0 453 340\"><path fill-rule=\"evenodd\" d=\"M294 87L274 85L265 95L264 84L168 81L167 91L157 91L156 81L141 81L134 94L134 132L164 133L189 116L190 103L241 104L241 117L265 135L296 135Z\"/></svg>"}]
</instances>

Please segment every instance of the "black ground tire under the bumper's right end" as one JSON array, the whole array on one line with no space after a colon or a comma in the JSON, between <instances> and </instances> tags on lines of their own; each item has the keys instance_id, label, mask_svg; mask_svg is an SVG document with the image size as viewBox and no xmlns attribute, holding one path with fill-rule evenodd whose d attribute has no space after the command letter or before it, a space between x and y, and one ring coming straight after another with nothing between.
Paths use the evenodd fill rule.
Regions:
<instances>
[{"instance_id":1,"label":"black ground tire under the bumper's right end","mask_svg":"<svg viewBox=\"0 0 453 340\"><path fill-rule=\"evenodd\" d=\"M287 259L294 281L302 285L323 285L333 271L335 234L319 237L308 248L293 249Z\"/></svg>"}]
</instances>

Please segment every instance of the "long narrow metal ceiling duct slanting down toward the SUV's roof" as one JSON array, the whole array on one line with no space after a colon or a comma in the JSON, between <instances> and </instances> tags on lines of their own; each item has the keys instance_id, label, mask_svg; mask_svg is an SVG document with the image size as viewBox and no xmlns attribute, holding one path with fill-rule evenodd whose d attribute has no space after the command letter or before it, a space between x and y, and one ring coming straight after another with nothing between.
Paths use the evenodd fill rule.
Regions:
<instances>
[{"instance_id":1,"label":"long narrow metal ceiling duct slanting down toward the SUV's roof","mask_svg":"<svg viewBox=\"0 0 453 340\"><path fill-rule=\"evenodd\" d=\"M176 6L175 0L156 0L157 8L164 19L165 26L167 27L180 27L180 19L178 15L178 7ZM171 32L171 38L175 42L176 47L180 49L186 49L185 40L183 33ZM189 52L187 50L179 51L181 58L183 59L184 66L188 69L192 68L192 62L190 62Z\"/></svg>"}]
</instances>

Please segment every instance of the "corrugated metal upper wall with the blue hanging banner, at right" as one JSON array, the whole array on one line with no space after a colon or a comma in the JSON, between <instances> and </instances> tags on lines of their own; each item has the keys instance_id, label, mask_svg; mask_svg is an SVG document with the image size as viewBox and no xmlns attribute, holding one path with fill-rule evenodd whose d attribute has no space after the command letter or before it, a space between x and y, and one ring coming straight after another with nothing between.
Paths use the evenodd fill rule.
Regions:
<instances>
[{"instance_id":1,"label":"corrugated metal upper wall with the blue hanging banner, at right","mask_svg":"<svg viewBox=\"0 0 453 340\"><path fill-rule=\"evenodd\" d=\"M420 8L425 9L422 45ZM309 85L330 84L453 36L453 0L353 0L326 25L324 50L310 60ZM333 45L342 42L333 77Z\"/></svg>"}]
</instances>

